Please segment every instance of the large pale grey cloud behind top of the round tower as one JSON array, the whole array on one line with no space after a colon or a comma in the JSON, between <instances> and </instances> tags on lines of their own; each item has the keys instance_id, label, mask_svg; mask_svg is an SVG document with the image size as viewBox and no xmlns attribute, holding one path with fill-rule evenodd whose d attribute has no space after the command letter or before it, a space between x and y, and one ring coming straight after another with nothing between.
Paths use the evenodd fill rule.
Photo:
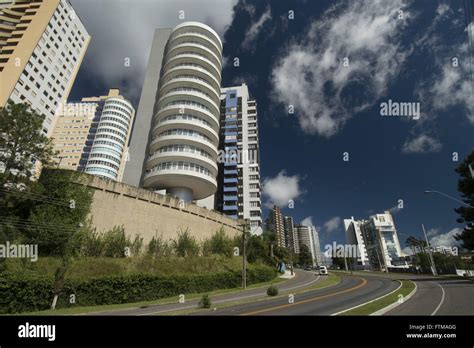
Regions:
<instances>
[{"instance_id":1,"label":"large pale grey cloud behind top of the round tower","mask_svg":"<svg viewBox=\"0 0 474 348\"><path fill-rule=\"evenodd\" d=\"M156 28L172 28L183 21L199 21L221 39L233 20L237 0L72 0L92 36L83 68L110 87L138 99ZM179 18L184 11L184 20ZM130 59L126 67L125 59ZM105 92L105 91L104 91Z\"/></svg>"}]
</instances>

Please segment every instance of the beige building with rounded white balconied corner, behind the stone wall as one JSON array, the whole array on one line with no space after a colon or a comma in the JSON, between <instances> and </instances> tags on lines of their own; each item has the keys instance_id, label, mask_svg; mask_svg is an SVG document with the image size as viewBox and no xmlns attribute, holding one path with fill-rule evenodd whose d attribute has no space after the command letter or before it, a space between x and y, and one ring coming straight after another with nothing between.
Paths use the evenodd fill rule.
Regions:
<instances>
[{"instance_id":1,"label":"beige building with rounded white balconied corner, behind the stone wall","mask_svg":"<svg viewBox=\"0 0 474 348\"><path fill-rule=\"evenodd\" d=\"M52 133L58 167L121 181L134 115L118 89L60 107Z\"/></svg>"}]
</instances>

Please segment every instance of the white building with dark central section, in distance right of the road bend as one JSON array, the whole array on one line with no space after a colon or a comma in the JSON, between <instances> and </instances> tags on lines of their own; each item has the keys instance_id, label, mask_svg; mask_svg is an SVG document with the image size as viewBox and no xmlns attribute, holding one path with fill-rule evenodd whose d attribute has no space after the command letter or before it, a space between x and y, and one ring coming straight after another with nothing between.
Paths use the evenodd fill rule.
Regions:
<instances>
[{"instance_id":1,"label":"white building with dark central section, in distance right of the road bend","mask_svg":"<svg viewBox=\"0 0 474 348\"><path fill-rule=\"evenodd\" d=\"M344 226L347 243L357 245L356 266L373 269L407 267L389 211L371 215L368 220L345 219Z\"/></svg>"}]
</instances>

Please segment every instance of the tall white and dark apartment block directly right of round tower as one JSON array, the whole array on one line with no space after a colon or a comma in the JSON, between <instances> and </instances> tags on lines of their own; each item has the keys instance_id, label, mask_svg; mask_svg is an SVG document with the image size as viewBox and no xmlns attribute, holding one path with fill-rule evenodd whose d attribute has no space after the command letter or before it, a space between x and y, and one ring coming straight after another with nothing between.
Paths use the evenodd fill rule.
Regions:
<instances>
[{"instance_id":1,"label":"tall white and dark apartment block directly right of round tower","mask_svg":"<svg viewBox=\"0 0 474 348\"><path fill-rule=\"evenodd\" d=\"M262 233L257 105L246 84L221 89L215 208Z\"/></svg>"}]
</instances>

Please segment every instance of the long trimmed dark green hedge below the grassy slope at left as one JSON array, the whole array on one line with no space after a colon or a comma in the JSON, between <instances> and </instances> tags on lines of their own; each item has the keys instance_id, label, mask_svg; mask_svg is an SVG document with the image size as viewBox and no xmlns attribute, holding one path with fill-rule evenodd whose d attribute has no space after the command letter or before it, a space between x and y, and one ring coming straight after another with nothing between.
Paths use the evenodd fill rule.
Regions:
<instances>
[{"instance_id":1,"label":"long trimmed dark green hedge below the grassy slope at left","mask_svg":"<svg viewBox=\"0 0 474 348\"><path fill-rule=\"evenodd\" d=\"M249 267L248 284L272 280L276 272L268 266ZM158 276L127 274L94 278L66 278L56 308L96 306L152 301L186 293L204 293L240 287L240 271ZM0 314L49 309L53 299L51 275L13 274L0 277ZM74 294L75 304L69 303Z\"/></svg>"}]
</instances>

